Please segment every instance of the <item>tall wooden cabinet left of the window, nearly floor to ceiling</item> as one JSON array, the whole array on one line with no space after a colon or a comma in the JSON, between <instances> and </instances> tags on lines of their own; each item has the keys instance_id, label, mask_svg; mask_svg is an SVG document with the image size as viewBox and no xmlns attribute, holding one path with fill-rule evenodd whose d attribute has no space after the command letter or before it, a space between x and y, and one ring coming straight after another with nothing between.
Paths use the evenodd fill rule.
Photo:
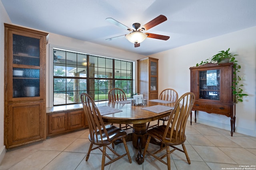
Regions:
<instances>
[{"instance_id":1,"label":"tall wooden cabinet left of the window, nearly floor to ceiling","mask_svg":"<svg viewBox=\"0 0 256 170\"><path fill-rule=\"evenodd\" d=\"M4 145L46 139L48 33L4 23Z\"/></svg>"}]
</instances>

